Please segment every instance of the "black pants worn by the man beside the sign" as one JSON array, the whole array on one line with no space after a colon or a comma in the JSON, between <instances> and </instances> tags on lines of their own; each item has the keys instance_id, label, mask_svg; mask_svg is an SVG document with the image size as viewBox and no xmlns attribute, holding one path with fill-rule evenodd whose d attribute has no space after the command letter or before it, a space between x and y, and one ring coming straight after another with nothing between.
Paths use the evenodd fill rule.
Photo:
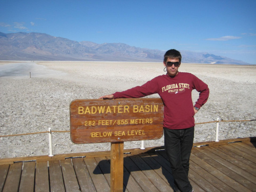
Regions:
<instances>
[{"instance_id":1,"label":"black pants worn by the man beside the sign","mask_svg":"<svg viewBox=\"0 0 256 192\"><path fill-rule=\"evenodd\" d=\"M188 180L188 170L193 140L194 127L182 130L169 130L164 127L164 146L170 161L174 183L182 192L192 190Z\"/></svg>"}]
</instances>

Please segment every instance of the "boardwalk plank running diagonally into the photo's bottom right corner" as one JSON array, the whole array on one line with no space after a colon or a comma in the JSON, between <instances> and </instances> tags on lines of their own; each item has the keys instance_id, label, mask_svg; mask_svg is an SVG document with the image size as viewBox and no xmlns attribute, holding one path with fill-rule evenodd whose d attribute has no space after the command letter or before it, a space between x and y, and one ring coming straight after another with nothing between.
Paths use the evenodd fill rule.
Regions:
<instances>
[{"instance_id":1,"label":"boardwalk plank running diagonally into the photo's bottom right corner","mask_svg":"<svg viewBox=\"0 0 256 192\"><path fill-rule=\"evenodd\" d=\"M196 155L200 159L204 160L205 162L207 162L211 166L215 167L216 169L220 170L223 174L227 175L234 181L240 183L241 185L245 186L248 189L255 188L255 185L252 182L248 181L247 179L245 179L238 173L233 172L233 170L229 169L229 167L224 166L222 163L215 160L214 159L215 157L212 156L211 154L203 153L203 151L207 152L207 150L204 150L204 147L193 148L193 150L192 150L194 155Z\"/></svg>"}]
</instances>

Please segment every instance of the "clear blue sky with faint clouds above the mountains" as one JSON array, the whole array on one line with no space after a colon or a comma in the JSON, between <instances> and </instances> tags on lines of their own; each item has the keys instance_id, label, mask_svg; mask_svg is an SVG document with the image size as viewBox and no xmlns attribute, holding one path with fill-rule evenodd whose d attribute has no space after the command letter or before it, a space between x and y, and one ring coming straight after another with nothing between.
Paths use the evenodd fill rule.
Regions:
<instances>
[{"instance_id":1,"label":"clear blue sky with faint clouds above the mountains","mask_svg":"<svg viewBox=\"0 0 256 192\"><path fill-rule=\"evenodd\" d=\"M255 0L0 0L0 32L208 52L256 64Z\"/></svg>"}]
</instances>

